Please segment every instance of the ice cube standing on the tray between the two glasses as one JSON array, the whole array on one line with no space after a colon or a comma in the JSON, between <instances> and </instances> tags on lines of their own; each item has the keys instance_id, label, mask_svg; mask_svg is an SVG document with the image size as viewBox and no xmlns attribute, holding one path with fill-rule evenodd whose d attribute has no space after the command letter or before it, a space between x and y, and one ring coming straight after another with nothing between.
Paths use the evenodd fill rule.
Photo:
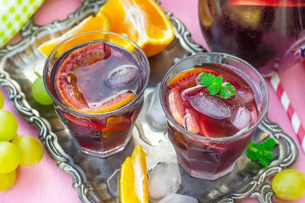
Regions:
<instances>
[{"instance_id":1,"label":"ice cube standing on the tray between the two glasses","mask_svg":"<svg viewBox=\"0 0 305 203\"><path fill-rule=\"evenodd\" d=\"M160 102L160 86L151 94L150 104L147 110L147 121L158 129L166 129L166 118Z\"/></svg>"}]
</instances>

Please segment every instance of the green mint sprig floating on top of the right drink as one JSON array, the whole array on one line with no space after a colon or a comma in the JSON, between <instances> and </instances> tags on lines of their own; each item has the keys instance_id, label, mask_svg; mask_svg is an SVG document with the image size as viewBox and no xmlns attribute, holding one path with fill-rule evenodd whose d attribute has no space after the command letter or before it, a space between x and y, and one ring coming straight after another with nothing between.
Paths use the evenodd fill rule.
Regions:
<instances>
[{"instance_id":1,"label":"green mint sprig floating on top of the right drink","mask_svg":"<svg viewBox=\"0 0 305 203\"><path fill-rule=\"evenodd\" d=\"M202 86L207 87L210 95L228 99L236 94L235 87L229 82L223 83L221 75L216 77L211 73L203 73L199 76L199 81Z\"/></svg>"}]
</instances>

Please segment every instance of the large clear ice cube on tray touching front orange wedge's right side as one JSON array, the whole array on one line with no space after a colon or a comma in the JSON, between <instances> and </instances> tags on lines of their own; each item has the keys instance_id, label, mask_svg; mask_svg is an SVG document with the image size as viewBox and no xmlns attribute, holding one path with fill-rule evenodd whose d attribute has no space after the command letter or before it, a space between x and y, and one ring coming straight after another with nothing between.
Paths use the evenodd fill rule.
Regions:
<instances>
[{"instance_id":1,"label":"large clear ice cube on tray touching front orange wedge's right side","mask_svg":"<svg viewBox=\"0 0 305 203\"><path fill-rule=\"evenodd\" d=\"M178 165L161 162L149 173L148 192L151 202L158 202L168 193L176 193L181 184Z\"/></svg>"}]
</instances>

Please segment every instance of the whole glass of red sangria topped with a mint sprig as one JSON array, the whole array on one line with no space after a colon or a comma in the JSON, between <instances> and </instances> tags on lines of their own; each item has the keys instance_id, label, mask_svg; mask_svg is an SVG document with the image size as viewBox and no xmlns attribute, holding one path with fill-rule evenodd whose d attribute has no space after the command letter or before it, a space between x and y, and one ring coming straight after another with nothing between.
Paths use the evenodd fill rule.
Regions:
<instances>
[{"instance_id":1,"label":"whole glass of red sangria topped with a mint sprig","mask_svg":"<svg viewBox=\"0 0 305 203\"><path fill-rule=\"evenodd\" d=\"M193 177L218 179L233 170L267 113L266 82L248 62L200 53L176 63L160 90L168 137Z\"/></svg>"}]
</instances>

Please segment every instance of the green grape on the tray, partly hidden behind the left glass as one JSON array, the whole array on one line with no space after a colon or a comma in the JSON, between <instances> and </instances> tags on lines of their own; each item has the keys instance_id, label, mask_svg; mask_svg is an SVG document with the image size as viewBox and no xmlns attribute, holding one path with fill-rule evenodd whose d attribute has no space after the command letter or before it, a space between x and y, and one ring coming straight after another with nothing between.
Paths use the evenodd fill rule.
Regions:
<instances>
[{"instance_id":1,"label":"green grape on the tray, partly hidden behind the left glass","mask_svg":"<svg viewBox=\"0 0 305 203\"><path fill-rule=\"evenodd\" d=\"M39 77L35 80L32 85L32 94L37 103L41 105L51 105L53 104L52 98L49 96L46 88L43 84L43 78Z\"/></svg>"}]
</instances>

